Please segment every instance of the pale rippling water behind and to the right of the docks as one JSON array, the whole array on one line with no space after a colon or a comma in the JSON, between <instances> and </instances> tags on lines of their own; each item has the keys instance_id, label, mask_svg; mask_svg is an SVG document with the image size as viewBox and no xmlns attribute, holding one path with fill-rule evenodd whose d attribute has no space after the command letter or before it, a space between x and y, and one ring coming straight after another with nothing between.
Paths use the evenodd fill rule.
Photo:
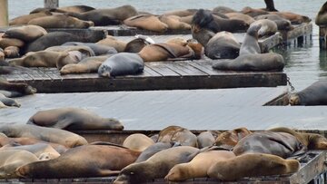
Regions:
<instances>
[{"instance_id":1,"label":"pale rippling water behind and to the right of the docks","mask_svg":"<svg viewBox=\"0 0 327 184\"><path fill-rule=\"evenodd\" d=\"M9 18L28 14L36 7L43 6L43 0L9 0ZM319 28L314 24L314 17L325 1L323 0L275 0L275 7L279 11L290 11L293 13L307 15L312 18L313 34L312 43L304 44L302 47L288 47L282 53L287 63L284 72L290 77L296 91L300 91L320 79L327 79L327 53L320 51L318 33ZM187 8L213 9L218 5L228 6L235 10L241 10L244 6L264 7L263 0L61 0L60 6L65 5L90 5L95 8L115 7L119 5L134 5L140 11L154 14L162 14L170 10Z\"/></svg>"}]
</instances>

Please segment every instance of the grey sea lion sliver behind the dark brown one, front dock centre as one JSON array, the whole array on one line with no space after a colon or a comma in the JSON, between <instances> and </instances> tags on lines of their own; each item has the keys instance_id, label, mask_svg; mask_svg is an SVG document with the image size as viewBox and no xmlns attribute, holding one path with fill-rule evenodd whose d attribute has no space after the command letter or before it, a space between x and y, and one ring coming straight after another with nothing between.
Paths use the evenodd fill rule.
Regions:
<instances>
[{"instance_id":1,"label":"grey sea lion sliver behind the dark brown one, front dock centre","mask_svg":"<svg viewBox=\"0 0 327 184\"><path fill-rule=\"evenodd\" d=\"M179 142L155 142L153 145L146 148L140 156L135 160L135 163L142 162L145 160L148 160L150 157L152 157L155 153L161 151L161 150L167 150L172 147L181 146Z\"/></svg>"}]
</instances>

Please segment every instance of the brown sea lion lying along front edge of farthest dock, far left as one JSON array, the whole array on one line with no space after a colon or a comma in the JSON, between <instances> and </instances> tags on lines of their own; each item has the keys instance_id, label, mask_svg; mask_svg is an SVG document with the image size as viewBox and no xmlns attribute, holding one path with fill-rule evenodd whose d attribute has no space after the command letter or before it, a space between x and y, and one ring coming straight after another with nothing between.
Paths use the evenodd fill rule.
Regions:
<instances>
[{"instance_id":1,"label":"brown sea lion lying along front edge of farthest dock, far left","mask_svg":"<svg viewBox=\"0 0 327 184\"><path fill-rule=\"evenodd\" d=\"M32 19L28 24L47 28L88 28L94 26L91 21L82 21L69 15L49 15Z\"/></svg>"}]
</instances>

